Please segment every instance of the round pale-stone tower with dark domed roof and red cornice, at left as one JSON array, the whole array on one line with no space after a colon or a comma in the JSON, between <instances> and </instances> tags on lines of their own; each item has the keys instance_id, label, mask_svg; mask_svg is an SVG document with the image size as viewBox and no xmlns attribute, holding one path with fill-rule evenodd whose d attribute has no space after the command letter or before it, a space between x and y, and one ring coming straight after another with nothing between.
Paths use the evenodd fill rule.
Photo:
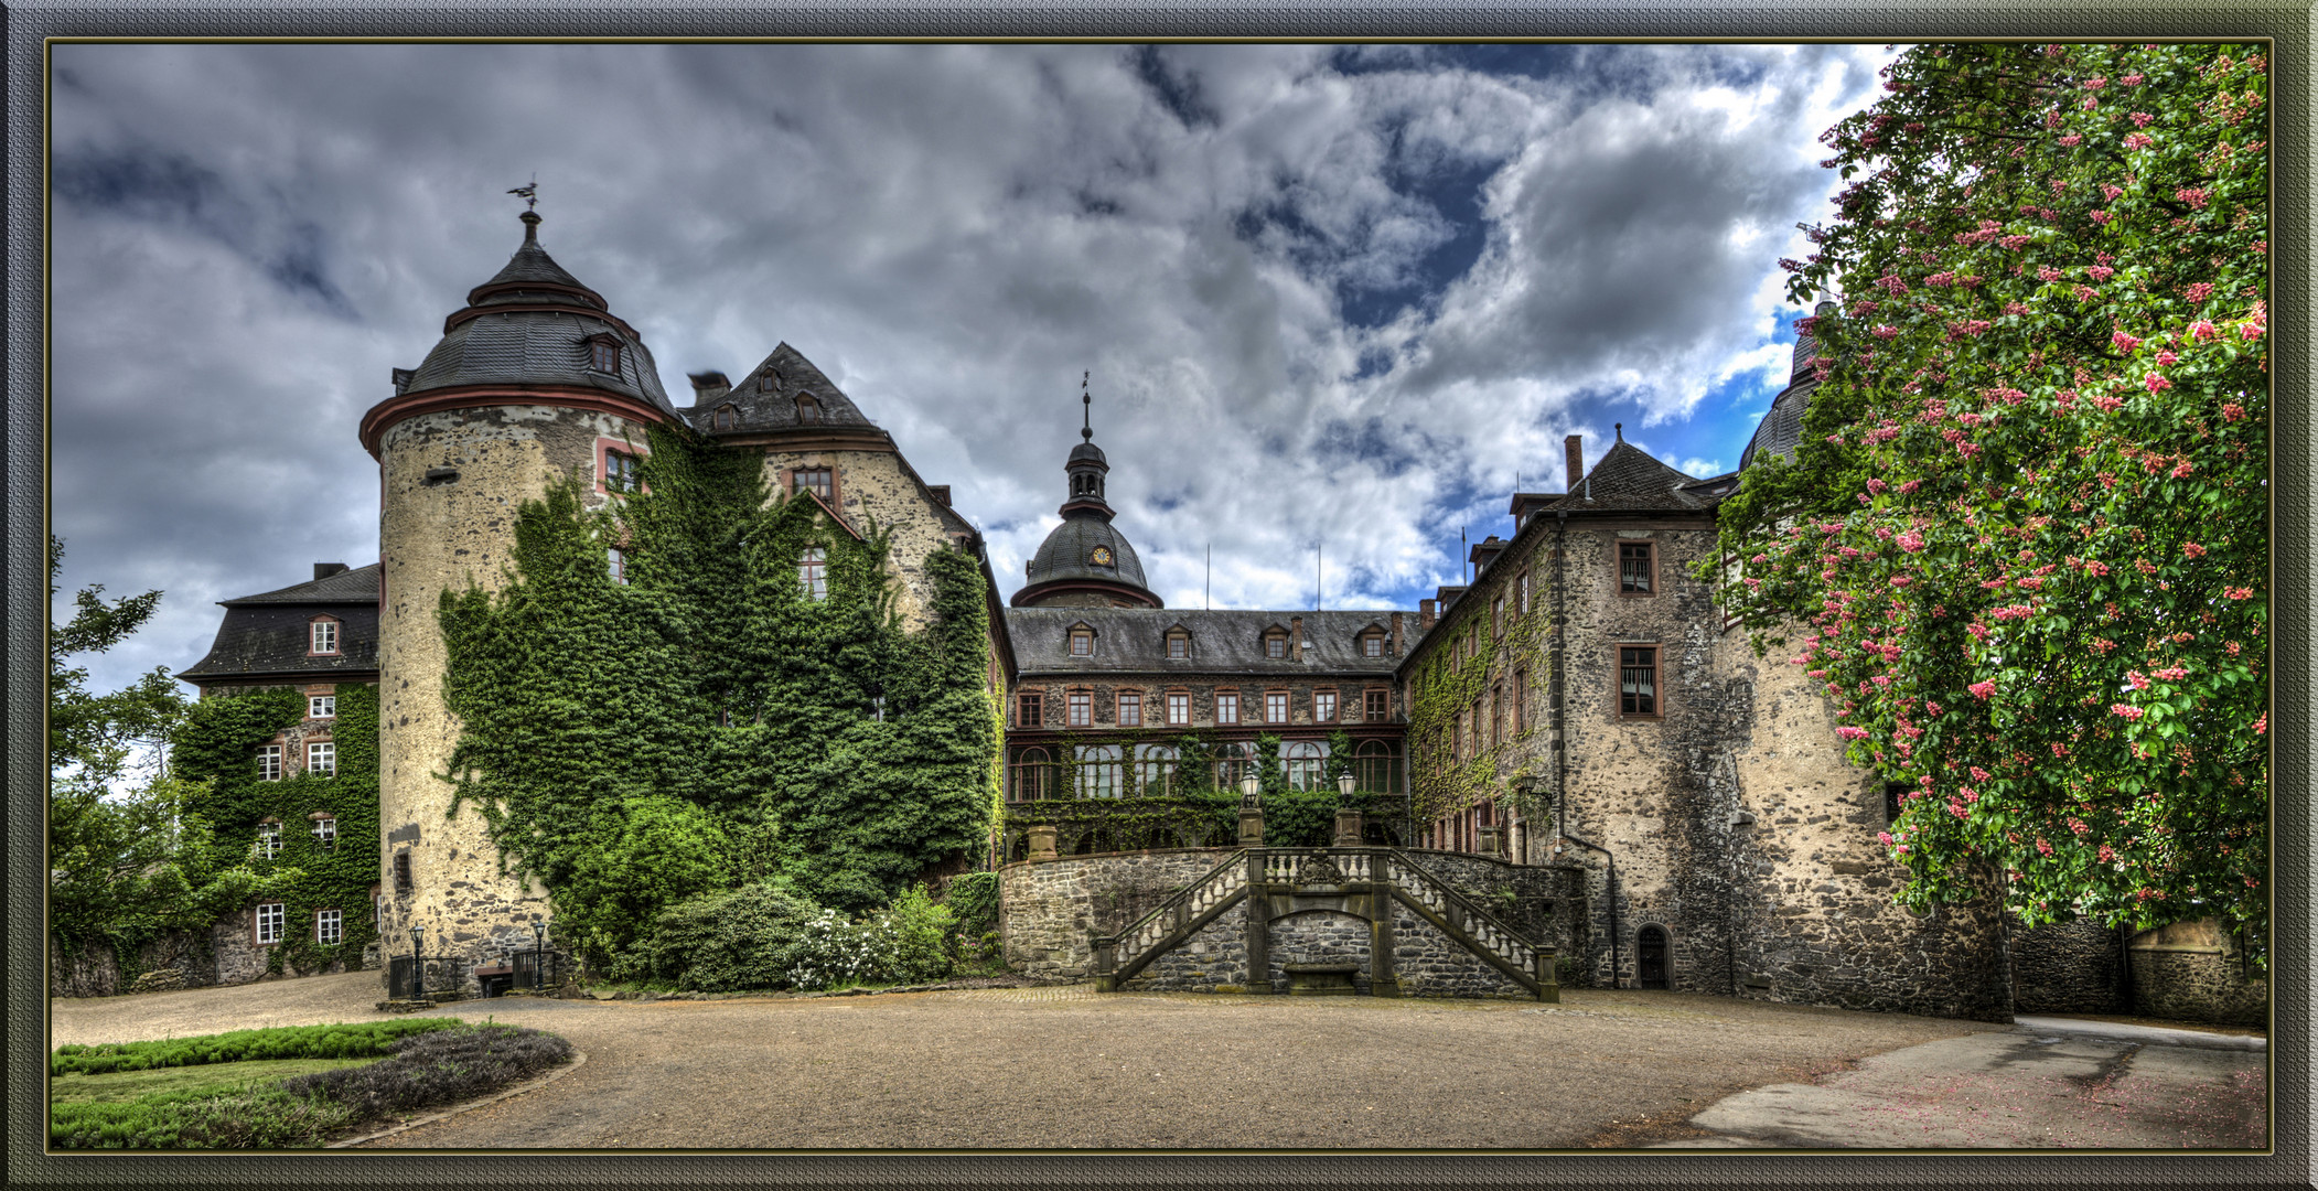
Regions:
<instances>
[{"instance_id":1,"label":"round pale-stone tower with dark domed roof and red cornice, at left","mask_svg":"<svg viewBox=\"0 0 2318 1191\"><path fill-rule=\"evenodd\" d=\"M508 266L362 417L378 459L378 931L389 957L410 955L422 927L429 957L501 964L531 950L531 922L549 913L535 881L498 874L482 816L447 816L454 790L438 774L459 725L443 707L440 593L498 589L524 500L580 470L600 505L607 484L630 482L649 426L677 417L644 341L540 248L535 211L522 222Z\"/></svg>"}]
</instances>

